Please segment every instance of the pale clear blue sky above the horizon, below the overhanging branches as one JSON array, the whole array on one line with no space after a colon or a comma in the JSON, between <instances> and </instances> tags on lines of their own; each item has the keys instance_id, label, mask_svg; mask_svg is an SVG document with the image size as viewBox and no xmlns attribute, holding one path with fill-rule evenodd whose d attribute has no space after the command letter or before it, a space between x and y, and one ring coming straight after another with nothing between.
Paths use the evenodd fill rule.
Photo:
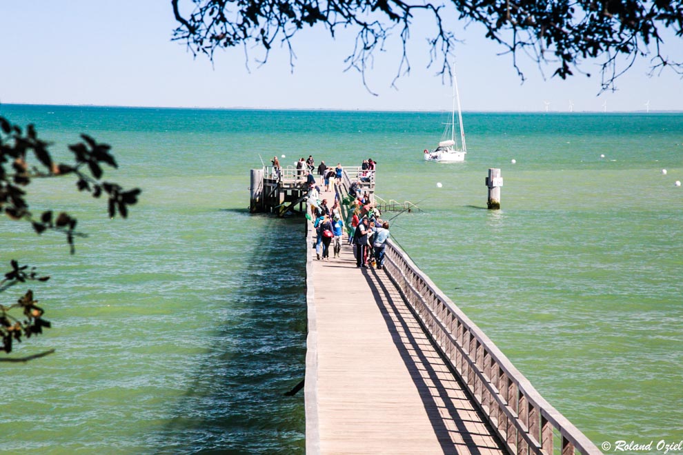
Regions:
<instances>
[{"instance_id":1,"label":"pale clear blue sky above the horizon, below the overhanging branches","mask_svg":"<svg viewBox=\"0 0 683 455\"><path fill-rule=\"evenodd\" d=\"M390 88L399 64L399 49L390 45L368 72L375 97L357 72L344 72L344 57L353 42L336 41L323 29L306 30L295 41L294 72L284 48L270 60L246 70L242 48L219 51L212 64L192 59L181 43L170 41L175 20L170 1L0 1L0 102L183 106L212 108L324 108L362 110L449 110L451 88L426 68L428 48L418 23L408 57L411 72ZM455 50L463 110L575 111L683 110L683 81L672 71L646 76L646 62L617 81L617 92L600 91L600 74L562 81L544 80L535 63L522 58L528 80L522 85L511 57L484 39L477 24L463 30L465 43ZM340 30L341 31L341 30ZM423 33L421 35L420 33ZM669 52L683 52L671 38ZM677 48L677 49L676 49ZM680 55L679 55L680 57ZM591 63L585 67L591 70Z\"/></svg>"}]
</instances>

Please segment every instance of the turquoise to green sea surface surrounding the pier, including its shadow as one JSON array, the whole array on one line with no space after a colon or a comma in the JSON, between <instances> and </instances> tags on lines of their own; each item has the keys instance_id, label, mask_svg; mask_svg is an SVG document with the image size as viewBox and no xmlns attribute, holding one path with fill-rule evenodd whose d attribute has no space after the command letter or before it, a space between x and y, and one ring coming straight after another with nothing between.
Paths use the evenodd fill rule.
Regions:
<instances>
[{"instance_id":1,"label":"turquoise to green sea surface surrounding the pier, including its shadow","mask_svg":"<svg viewBox=\"0 0 683 455\"><path fill-rule=\"evenodd\" d=\"M425 210L393 221L395 241L544 398L598 446L683 439L683 114L465 112L457 164L422 160L443 113L0 116L35 123L64 160L81 132L110 143L121 169L106 177L143 189L111 221L71 180L32 184L34 210L68 210L89 234L75 256L0 221L0 264L52 276L30 288L53 328L13 354L57 349L0 363L0 452L304 452L303 394L284 396L304 376L303 227L248 213L259 154L375 159L377 194ZM488 168L502 169L499 211Z\"/></svg>"}]
</instances>

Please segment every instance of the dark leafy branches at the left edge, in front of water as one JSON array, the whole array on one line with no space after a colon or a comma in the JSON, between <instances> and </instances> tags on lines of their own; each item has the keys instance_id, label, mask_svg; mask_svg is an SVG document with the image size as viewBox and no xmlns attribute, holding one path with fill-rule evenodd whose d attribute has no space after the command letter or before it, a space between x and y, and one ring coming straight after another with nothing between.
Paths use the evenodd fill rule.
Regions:
<instances>
[{"instance_id":1,"label":"dark leafy branches at the left edge, in front of water","mask_svg":"<svg viewBox=\"0 0 683 455\"><path fill-rule=\"evenodd\" d=\"M46 210L34 214L30 210L26 188L33 179L73 176L80 192L90 192L95 198L106 194L111 218L117 213L126 218L128 206L137 203L141 192L139 188L123 190L117 183L103 181L102 165L117 168L110 145L98 143L86 134L81 134L81 139L82 142L69 145L74 155L72 163L56 163L48 150L50 143L39 139L33 125L28 125L23 132L18 125L0 117L0 214L6 214L12 220L27 221L37 234L47 230L64 234L71 254L75 253L75 237L85 234L76 230L77 219L66 212L55 215L52 210ZM39 276L34 267L20 265L14 259L10 261L10 267L0 281L0 294L19 283L49 279L49 276ZM43 319L43 308L37 303L32 290L20 296L16 303L0 302L0 351L9 354L13 341L21 342L22 337L30 338L41 334L43 327L50 327L50 322ZM27 361L50 352L13 360Z\"/></svg>"}]
</instances>

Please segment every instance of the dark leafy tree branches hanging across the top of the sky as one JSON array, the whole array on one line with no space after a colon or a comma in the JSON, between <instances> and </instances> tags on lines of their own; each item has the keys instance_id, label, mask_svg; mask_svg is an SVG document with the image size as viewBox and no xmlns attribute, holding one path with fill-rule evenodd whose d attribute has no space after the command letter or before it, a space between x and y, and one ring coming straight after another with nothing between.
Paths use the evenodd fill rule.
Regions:
<instances>
[{"instance_id":1,"label":"dark leafy tree branches hanging across the top of the sky","mask_svg":"<svg viewBox=\"0 0 683 455\"><path fill-rule=\"evenodd\" d=\"M259 48L268 60L270 49L281 43L294 57L292 39L305 27L321 26L331 37L338 28L356 32L345 62L362 74L371 68L374 52L383 50L395 28L403 43L396 78L410 72L406 43L417 12L427 12L435 24L428 38L431 61L439 74L450 74L453 49L459 41L455 24L479 23L486 37L513 56L519 77L524 74L517 56L531 57L553 75L566 79L597 60L602 90L614 90L616 79L639 58L649 58L651 73L671 68L683 75L683 62L664 52L662 30L683 37L683 3L679 0L452 0L442 3L402 0L172 0L179 25L174 38L194 54L214 59L219 48ZM186 8L187 14L181 9ZM455 12L454 12L455 11ZM422 15L420 17L423 17ZM680 42L669 43L678 49ZM348 69L347 68L347 69ZM395 82L394 79L393 82ZM367 87L367 85L366 85ZM368 89L369 90L369 89Z\"/></svg>"}]
</instances>

